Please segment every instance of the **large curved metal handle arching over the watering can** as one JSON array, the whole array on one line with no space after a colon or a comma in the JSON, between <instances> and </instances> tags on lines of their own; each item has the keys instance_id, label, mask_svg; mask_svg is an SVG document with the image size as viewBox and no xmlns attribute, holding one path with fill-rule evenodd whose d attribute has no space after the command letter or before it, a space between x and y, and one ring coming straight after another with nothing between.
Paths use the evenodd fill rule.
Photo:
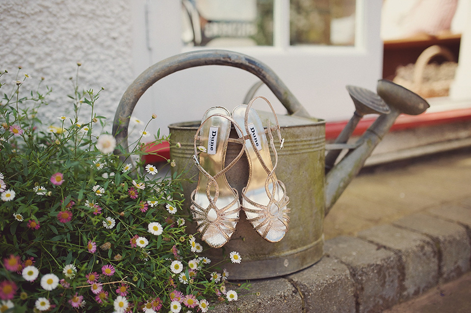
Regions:
<instances>
[{"instance_id":1,"label":"large curved metal handle arching over the watering can","mask_svg":"<svg viewBox=\"0 0 471 313\"><path fill-rule=\"evenodd\" d=\"M203 65L226 65L240 68L258 76L288 110L288 114L309 117L288 87L269 67L245 54L211 49L185 52L162 60L142 72L121 97L113 120L113 135L125 151L128 147L129 117L139 98L157 80L184 69Z\"/></svg>"}]
</instances>

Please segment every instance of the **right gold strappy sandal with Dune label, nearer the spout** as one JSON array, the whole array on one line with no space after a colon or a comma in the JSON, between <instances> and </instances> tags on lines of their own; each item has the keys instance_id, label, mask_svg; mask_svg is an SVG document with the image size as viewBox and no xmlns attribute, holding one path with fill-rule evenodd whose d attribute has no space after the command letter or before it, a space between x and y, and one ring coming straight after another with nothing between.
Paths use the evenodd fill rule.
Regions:
<instances>
[{"instance_id":1,"label":"right gold strappy sandal with Dune label, nearer the spout","mask_svg":"<svg viewBox=\"0 0 471 313\"><path fill-rule=\"evenodd\" d=\"M275 116L275 126L263 129L262 121L257 112L251 108L255 99L262 98L270 106ZM277 180L275 169L278 164L278 153L273 144L272 131L276 130L283 148L284 139L281 137L280 125L275 111L270 102L258 96L253 98L248 105L235 107L232 113L233 119L237 123L244 123L243 132L237 133L245 141L247 160L249 162L249 178L247 186L242 189L242 209L247 216L247 220L263 239L270 242L277 242L283 239L288 232L289 217L287 205L289 197L286 195L286 188L283 182ZM270 146L275 154L275 164L272 165L270 151L265 133L270 138Z\"/></svg>"}]
</instances>

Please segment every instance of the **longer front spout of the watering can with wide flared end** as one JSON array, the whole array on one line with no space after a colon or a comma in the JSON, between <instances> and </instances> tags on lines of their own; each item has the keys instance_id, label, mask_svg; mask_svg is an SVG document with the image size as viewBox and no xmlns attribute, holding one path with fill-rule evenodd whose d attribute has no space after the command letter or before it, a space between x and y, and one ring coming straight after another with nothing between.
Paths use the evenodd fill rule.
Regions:
<instances>
[{"instance_id":1,"label":"longer front spout of the watering can with wide flared end","mask_svg":"<svg viewBox=\"0 0 471 313\"><path fill-rule=\"evenodd\" d=\"M389 106L391 112L389 112L389 114L380 115L362 137L358 139L357 144L355 144L356 147L350 150L333 168L330 168L327 164L327 162L330 162L328 160L329 154L327 154L325 215L329 213L332 206L339 199L340 194L358 174L365 164L366 159L376 145L388 133L396 118L400 114L419 115L429 108L429 104L425 99L389 80L379 80L376 91ZM337 156L334 158L334 162L336 157Z\"/></svg>"}]
</instances>

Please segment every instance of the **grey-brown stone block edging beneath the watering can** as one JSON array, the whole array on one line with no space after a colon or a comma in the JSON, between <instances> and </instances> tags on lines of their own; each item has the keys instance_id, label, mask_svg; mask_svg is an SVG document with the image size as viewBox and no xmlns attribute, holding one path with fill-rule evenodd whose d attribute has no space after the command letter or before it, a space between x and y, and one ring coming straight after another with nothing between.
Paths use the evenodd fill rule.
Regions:
<instances>
[{"instance_id":1,"label":"grey-brown stone block edging beneath the watering can","mask_svg":"<svg viewBox=\"0 0 471 313\"><path fill-rule=\"evenodd\" d=\"M324 252L212 312L380 313L470 270L471 198L328 240Z\"/></svg>"}]
</instances>

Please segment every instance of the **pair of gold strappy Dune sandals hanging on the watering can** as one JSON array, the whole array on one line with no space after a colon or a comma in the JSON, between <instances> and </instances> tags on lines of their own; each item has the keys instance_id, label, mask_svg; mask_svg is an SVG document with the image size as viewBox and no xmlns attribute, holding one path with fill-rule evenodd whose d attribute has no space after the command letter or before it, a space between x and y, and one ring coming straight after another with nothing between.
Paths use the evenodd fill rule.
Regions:
<instances>
[{"instance_id":1,"label":"pair of gold strappy Dune sandals hanging on the watering can","mask_svg":"<svg viewBox=\"0 0 471 313\"><path fill-rule=\"evenodd\" d=\"M268 121L267 129L263 128L262 120L252 108L252 103L258 98L266 101L275 117L276 124L271 126ZM232 125L235 126L238 139L229 138ZM244 125L244 128L240 125ZM200 174L197 187L191 194L190 210L201 238L209 246L219 248L229 241L235 232L241 209L266 241L280 241L288 232L289 197L285 185L275 175L278 154L272 131L277 132L280 148L283 148L284 139L275 111L262 96L255 97L247 105L235 107L232 114L223 107L212 107L204 114L194 138L194 158ZM274 152L274 165L265 134L268 134ZM200 151L197 142L206 151ZM235 159L224 167L229 142L241 144L242 148ZM242 189L240 204L238 192L229 185L225 173L244 153L249 165L249 176L247 186Z\"/></svg>"}]
</instances>

